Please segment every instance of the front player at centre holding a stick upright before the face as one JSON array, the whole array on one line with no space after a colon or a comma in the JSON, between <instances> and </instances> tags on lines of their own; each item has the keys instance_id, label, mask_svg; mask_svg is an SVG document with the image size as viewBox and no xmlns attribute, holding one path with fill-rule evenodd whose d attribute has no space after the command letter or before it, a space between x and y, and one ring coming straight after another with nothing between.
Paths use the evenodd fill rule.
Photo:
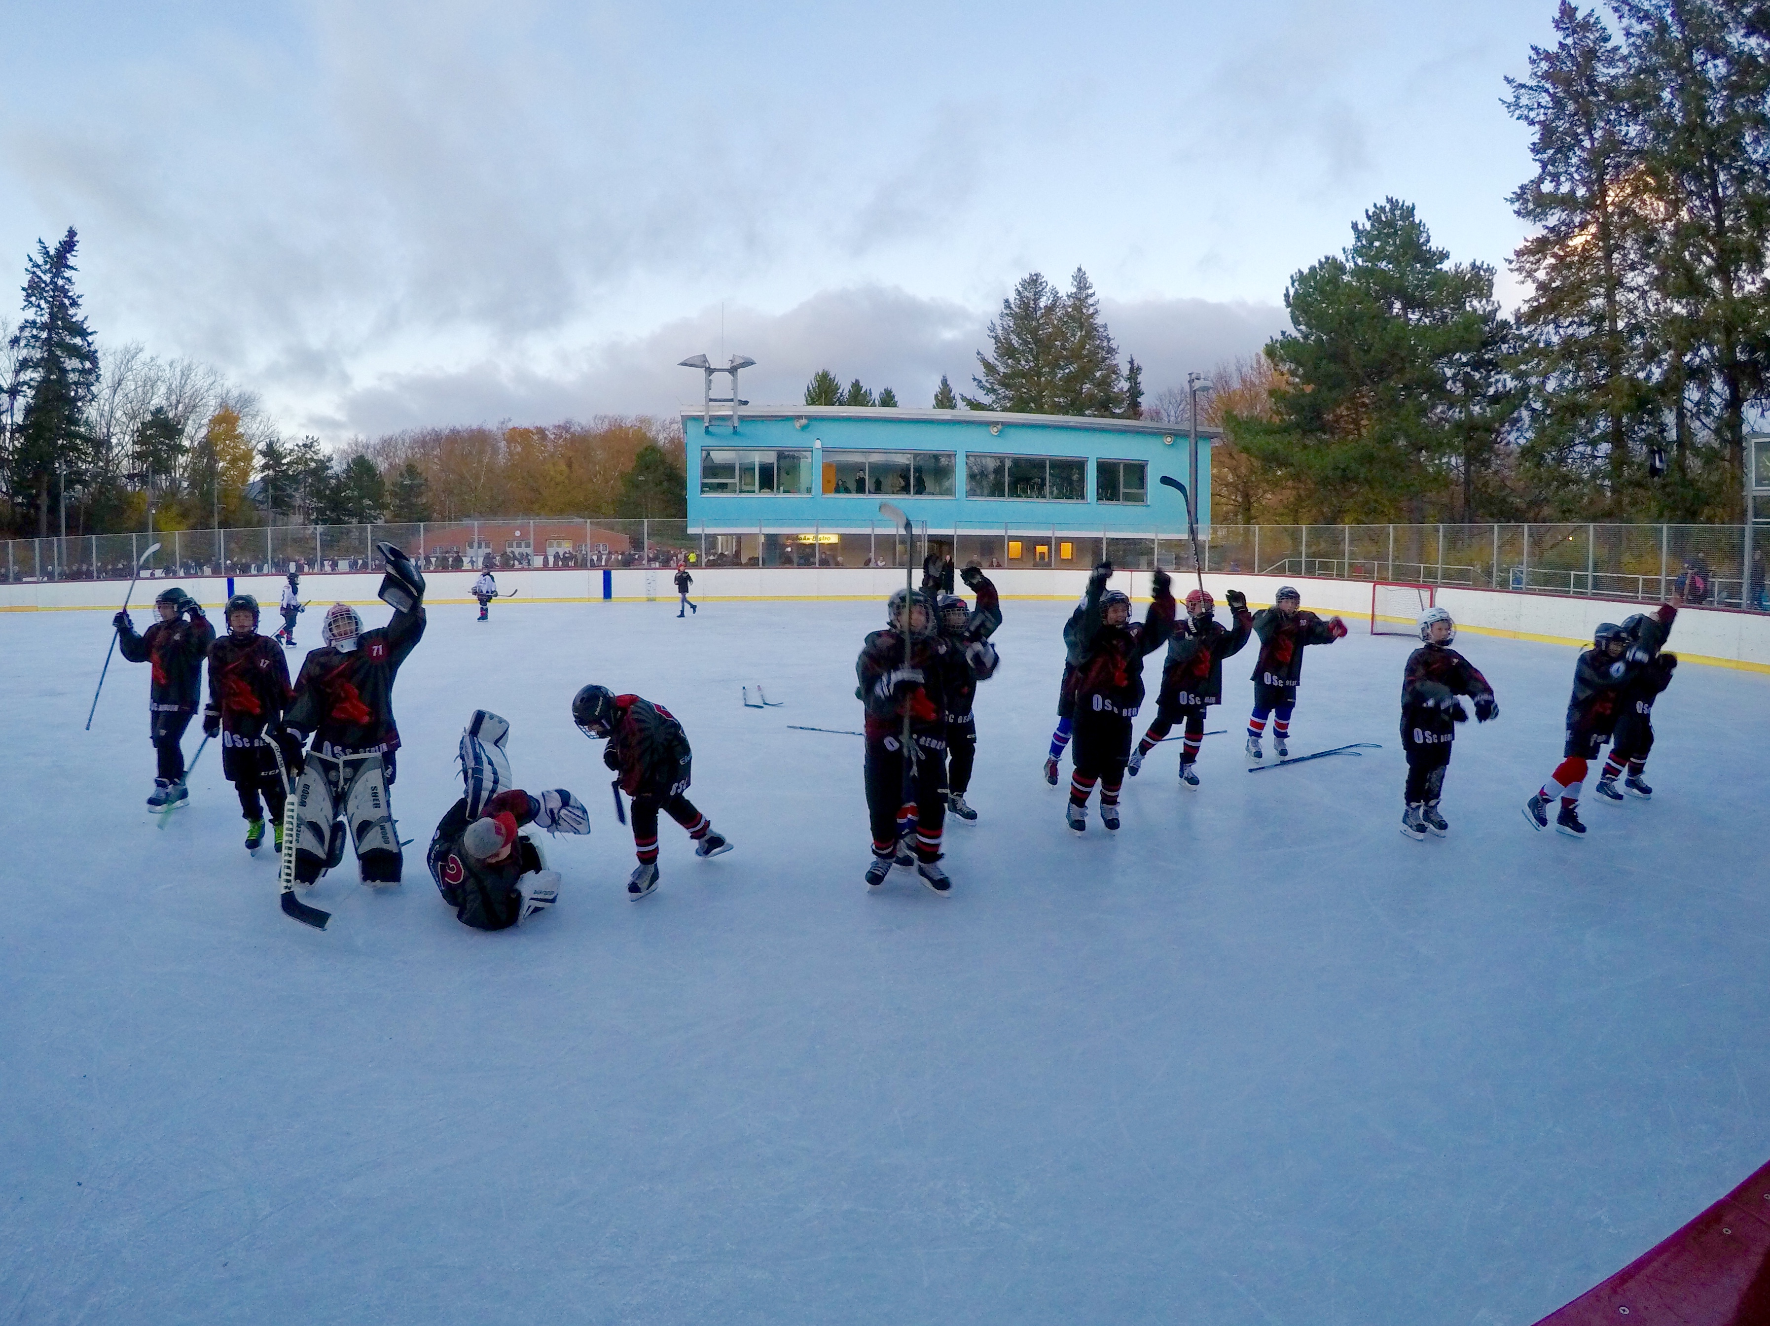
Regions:
<instances>
[{"instance_id":1,"label":"front player at centre holding a stick upright before the face","mask_svg":"<svg viewBox=\"0 0 1770 1326\"><path fill-rule=\"evenodd\" d=\"M867 888L883 884L894 865L915 865L922 882L947 896L952 880L940 868L940 836L947 817L942 792L947 644L924 594L892 591L885 622L883 631L867 635L855 659L855 698L866 707L867 820L873 829ZM903 748L904 714L910 718L910 751ZM912 826L913 847L908 842Z\"/></svg>"}]
</instances>

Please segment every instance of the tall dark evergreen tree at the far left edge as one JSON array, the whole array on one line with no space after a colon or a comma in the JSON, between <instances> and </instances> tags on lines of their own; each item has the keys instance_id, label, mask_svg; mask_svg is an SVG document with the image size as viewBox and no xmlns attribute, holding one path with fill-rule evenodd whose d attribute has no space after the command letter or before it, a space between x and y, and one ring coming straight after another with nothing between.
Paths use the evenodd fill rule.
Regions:
<instances>
[{"instance_id":1,"label":"tall dark evergreen tree at the far left edge","mask_svg":"<svg viewBox=\"0 0 1770 1326\"><path fill-rule=\"evenodd\" d=\"M53 249L37 240L25 269L25 316L9 341L27 394L9 458L11 488L32 493L37 537L50 534L51 486L83 479L92 449L85 415L97 392L99 357L74 292L78 248L73 226Z\"/></svg>"}]
</instances>

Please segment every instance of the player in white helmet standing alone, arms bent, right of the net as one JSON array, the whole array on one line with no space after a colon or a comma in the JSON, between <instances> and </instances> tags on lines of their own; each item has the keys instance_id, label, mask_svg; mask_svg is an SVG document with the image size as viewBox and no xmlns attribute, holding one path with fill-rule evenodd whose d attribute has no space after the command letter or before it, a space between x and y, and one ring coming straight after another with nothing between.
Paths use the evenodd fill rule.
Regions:
<instances>
[{"instance_id":1,"label":"player in white helmet standing alone, arms bent, right of the net","mask_svg":"<svg viewBox=\"0 0 1770 1326\"><path fill-rule=\"evenodd\" d=\"M1457 723L1469 720L1457 697L1469 697L1478 721L1499 718L1494 688L1450 647L1455 638L1451 615L1444 608L1427 608L1420 613L1421 645L1407 656L1402 674L1402 750L1407 751L1402 833L1409 838L1425 838L1428 831L1443 838L1450 829L1437 803Z\"/></svg>"}]
</instances>

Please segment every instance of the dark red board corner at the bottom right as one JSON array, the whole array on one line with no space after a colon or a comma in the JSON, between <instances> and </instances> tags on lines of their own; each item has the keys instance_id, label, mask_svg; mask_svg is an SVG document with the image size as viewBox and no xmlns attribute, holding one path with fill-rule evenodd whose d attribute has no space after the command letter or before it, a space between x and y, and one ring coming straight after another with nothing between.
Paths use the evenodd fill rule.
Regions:
<instances>
[{"instance_id":1,"label":"dark red board corner at the bottom right","mask_svg":"<svg viewBox=\"0 0 1770 1326\"><path fill-rule=\"evenodd\" d=\"M1770 1326L1770 1165L1536 1326Z\"/></svg>"}]
</instances>

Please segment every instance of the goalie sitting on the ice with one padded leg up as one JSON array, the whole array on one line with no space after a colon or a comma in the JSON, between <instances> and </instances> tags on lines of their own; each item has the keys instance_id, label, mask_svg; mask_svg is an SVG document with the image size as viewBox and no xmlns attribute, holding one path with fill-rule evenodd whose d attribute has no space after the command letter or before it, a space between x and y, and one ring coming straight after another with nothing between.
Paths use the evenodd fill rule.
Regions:
<instances>
[{"instance_id":1,"label":"goalie sitting on the ice with one padded leg up","mask_svg":"<svg viewBox=\"0 0 1770 1326\"><path fill-rule=\"evenodd\" d=\"M563 787L538 797L510 787L504 737L510 725L476 709L460 735L464 796L430 834L427 865L455 919L476 930L504 930L559 900L559 872L547 868L540 843L517 833L589 833L589 812Z\"/></svg>"}]
</instances>

